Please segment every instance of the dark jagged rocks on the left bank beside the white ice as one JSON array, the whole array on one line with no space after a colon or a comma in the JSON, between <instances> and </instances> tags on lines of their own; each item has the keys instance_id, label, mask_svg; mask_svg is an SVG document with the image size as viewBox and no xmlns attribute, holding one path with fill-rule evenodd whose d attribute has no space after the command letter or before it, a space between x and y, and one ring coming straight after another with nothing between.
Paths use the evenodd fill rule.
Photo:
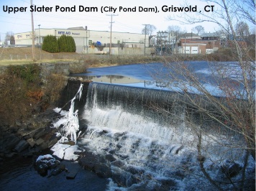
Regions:
<instances>
[{"instance_id":1,"label":"dark jagged rocks on the left bank beside the white ice","mask_svg":"<svg viewBox=\"0 0 256 191\"><path fill-rule=\"evenodd\" d=\"M1 162L17 155L32 157L53 146L59 139L55 136L57 129L51 127L52 121L56 118L58 113L48 108L25 123L16 121L14 126L1 126Z\"/></svg>"}]
</instances>

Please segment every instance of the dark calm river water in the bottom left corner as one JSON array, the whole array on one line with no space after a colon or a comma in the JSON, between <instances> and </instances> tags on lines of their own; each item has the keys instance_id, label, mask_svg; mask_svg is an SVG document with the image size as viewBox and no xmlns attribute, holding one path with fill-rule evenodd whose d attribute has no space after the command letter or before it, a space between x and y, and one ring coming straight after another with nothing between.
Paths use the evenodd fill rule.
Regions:
<instances>
[{"instance_id":1,"label":"dark calm river water in the bottom left corner","mask_svg":"<svg viewBox=\"0 0 256 191\"><path fill-rule=\"evenodd\" d=\"M106 190L108 180L80 169L75 179L67 180L65 172L57 176L41 177L33 167L32 158L9 159L0 171L0 190ZM79 167L79 164L76 164Z\"/></svg>"}]
</instances>

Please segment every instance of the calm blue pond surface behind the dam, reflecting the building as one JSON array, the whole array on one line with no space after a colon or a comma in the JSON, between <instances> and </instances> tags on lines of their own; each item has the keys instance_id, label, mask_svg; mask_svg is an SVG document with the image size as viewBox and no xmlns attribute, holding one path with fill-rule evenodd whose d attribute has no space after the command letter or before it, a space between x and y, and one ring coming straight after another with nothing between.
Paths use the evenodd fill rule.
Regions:
<instances>
[{"instance_id":1,"label":"calm blue pond surface behind the dam, reflecting the building","mask_svg":"<svg viewBox=\"0 0 256 191\"><path fill-rule=\"evenodd\" d=\"M175 64L149 63L96 67L88 68L86 73L76 73L71 76L79 76L84 80L98 83L161 90L182 91L183 89L180 87L185 85L188 92L200 94L198 90L193 88L191 82L186 82L184 76L175 72L175 67L173 67ZM242 78L242 73L237 62L189 61L183 62L183 66L188 68L213 95L224 96L219 88L219 82L228 82L230 85L234 85L235 88L242 88L242 84L238 83ZM178 76L177 79L173 78L174 74ZM180 85L180 80L183 81L182 85ZM255 83L255 79L252 79L252 83Z\"/></svg>"}]
</instances>

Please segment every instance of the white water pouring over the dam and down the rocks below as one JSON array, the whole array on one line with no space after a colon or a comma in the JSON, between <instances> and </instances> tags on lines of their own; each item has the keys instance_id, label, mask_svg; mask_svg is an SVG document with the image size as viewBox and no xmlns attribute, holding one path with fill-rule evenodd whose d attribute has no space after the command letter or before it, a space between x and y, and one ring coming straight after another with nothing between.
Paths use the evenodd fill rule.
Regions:
<instances>
[{"instance_id":1,"label":"white water pouring over the dam and down the rocks below","mask_svg":"<svg viewBox=\"0 0 256 191\"><path fill-rule=\"evenodd\" d=\"M214 190L206 179L198 179L203 176L198 141L186 124L182 99L168 91L89 85L82 115L88 129L78 144L114 157L109 190Z\"/></svg>"}]
</instances>

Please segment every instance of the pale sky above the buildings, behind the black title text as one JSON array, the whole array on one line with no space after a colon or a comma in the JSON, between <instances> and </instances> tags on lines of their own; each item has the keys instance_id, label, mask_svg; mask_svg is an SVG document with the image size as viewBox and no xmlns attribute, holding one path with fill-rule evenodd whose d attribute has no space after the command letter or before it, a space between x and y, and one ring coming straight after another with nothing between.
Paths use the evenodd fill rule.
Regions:
<instances>
[{"instance_id":1,"label":"pale sky above the buildings, behind the black title text","mask_svg":"<svg viewBox=\"0 0 256 191\"><path fill-rule=\"evenodd\" d=\"M176 2L176 3L175 3ZM180 1L181 2L181 1ZM191 1L191 6L197 6L197 9L204 9L203 7L207 4L202 4L201 1ZM111 17L109 14L115 14L118 16L113 17L113 31L115 32L134 32L141 33L142 24L152 24L157 29L157 31L165 31L170 25L179 25L181 29L187 32L191 32L191 29L199 24L194 25L184 25L179 22L173 22L168 20L168 16L175 15L174 12L165 12L162 10L163 6L181 6L177 3L177 0L98 0L98 1L85 1L85 0L33 0L33 5L37 7L52 7L52 11L33 11L34 15L34 26L37 29L38 24L40 28L50 29L50 28L63 28L68 27L85 27L87 26L89 30L100 30L100 31L110 31L110 21ZM7 6L7 7L6 7ZM72 8L76 6L76 12L73 11L60 11L55 10L56 6ZM79 6L83 7L96 7L98 11L86 12L79 10ZM116 8L114 13L107 8L106 11L101 13L101 6L107 6ZM136 11L124 12L119 11L120 7L124 8L136 8ZM140 11L139 6L143 8L154 8L157 7L157 13ZM12 9L13 7L27 7L26 11L5 12L4 9ZM63 8L64 9L64 8ZM109 11L107 11L109 9ZM30 0L0 0L0 33L1 40L4 40L6 32L29 32L31 31L31 11L30 11ZM133 9L134 10L134 9ZM203 10L202 10L203 11ZM189 14L193 14L192 12ZM218 29L217 26L209 23L200 24L204 27L206 32L214 32Z\"/></svg>"}]
</instances>

